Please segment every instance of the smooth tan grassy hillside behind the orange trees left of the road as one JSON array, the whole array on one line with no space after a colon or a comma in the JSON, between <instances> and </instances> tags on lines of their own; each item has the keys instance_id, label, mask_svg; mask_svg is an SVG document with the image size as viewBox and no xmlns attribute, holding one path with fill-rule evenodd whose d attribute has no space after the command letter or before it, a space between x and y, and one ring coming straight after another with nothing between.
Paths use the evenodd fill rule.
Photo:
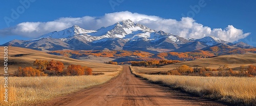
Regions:
<instances>
[{"instance_id":1,"label":"smooth tan grassy hillside behind the orange trees left of the road","mask_svg":"<svg viewBox=\"0 0 256 106\"><path fill-rule=\"evenodd\" d=\"M0 56L4 56L3 46L0 46L0 51L2 51L0 52ZM91 63L91 62L76 60L76 59L63 57L63 56L50 55L50 54L47 54L46 52L28 49L28 48L20 48L20 47L12 47L12 46L8 47L9 73L13 73L15 70L18 69L19 66L21 67L33 66L33 62L36 59L48 60L48 61L50 60L61 61L64 63L66 67L70 64L88 66L88 67L91 67L94 72L117 71L117 69L121 69L121 66L117 66L117 65ZM1 59L0 62L4 63L4 60ZM0 65L0 68L3 69L4 65ZM3 74L3 71L1 71L0 74Z\"/></svg>"}]
</instances>

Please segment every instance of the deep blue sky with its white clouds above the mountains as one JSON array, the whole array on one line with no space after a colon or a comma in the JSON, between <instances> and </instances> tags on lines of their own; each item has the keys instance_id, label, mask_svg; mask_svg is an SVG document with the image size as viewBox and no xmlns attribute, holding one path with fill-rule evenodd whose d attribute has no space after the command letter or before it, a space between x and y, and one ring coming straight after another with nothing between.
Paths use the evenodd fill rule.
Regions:
<instances>
[{"instance_id":1,"label":"deep blue sky with its white clouds above the mountains","mask_svg":"<svg viewBox=\"0 0 256 106\"><path fill-rule=\"evenodd\" d=\"M88 16L90 21L100 20L99 22L82 21L79 26L84 29L97 30L100 25L107 26L120 19L111 20L108 15L137 17L132 19L134 22L145 24L154 30L164 30L168 33L179 34L183 37L200 38L208 35L214 35L224 40L234 41L243 39L242 41L254 45L255 44L255 20L256 19L256 2L248 1L210 1L210 0L194 0L194 1L133 1L133 0L107 0L107 1L29 1L29 6L23 6L20 1L4 1L0 4L0 44L6 43L13 39L33 39L39 35L49 33L52 30L63 30L77 22L74 19ZM192 8L191 8L192 7ZM199 9L199 8L200 9ZM19 11L15 18L12 18L13 11ZM18 10L17 10L18 9ZM156 16L156 17L154 17ZM182 17L190 17L183 18ZM86 19L89 19L86 18ZM150 21L138 20L139 18L149 19ZM6 22L7 19L9 22ZM68 20L69 19L69 20ZM123 19L123 17L122 17ZM65 21L62 21L65 20ZM70 22L72 20L72 22ZM108 21L110 20L110 21ZM58 28L46 29L46 26L54 24L51 21L70 22L69 24L58 25ZM107 21L107 22L106 22ZM26 23L27 22L27 23ZM30 30L31 28L19 28L21 23L25 25L37 24L36 31L24 32L19 30ZM49 24L45 24L45 23ZM79 21L80 22L80 21ZM105 24L104 24L105 22ZM161 25L160 23L164 23ZM165 24L166 22L175 22L173 24ZM33 23L33 24L32 24ZM90 23L90 24L89 24ZM159 23L159 24L158 24ZM180 24L193 24L190 28L180 27ZM8 25L9 24L9 25ZM57 24L57 23L56 23ZM58 23L59 24L59 23ZM97 24L97 25L95 25ZM94 26L95 25L95 26ZM162 28L162 29L161 29ZM44 30L42 30L44 29ZM176 29L176 30L173 30ZM187 32L182 31L186 29ZM197 30L195 30L197 29ZM199 29L199 30L198 30ZM207 29L210 29L208 32ZM35 30L35 29L32 29ZM196 31L201 31L197 36ZM231 31L231 32L229 32ZM182 32L182 33L181 33ZM185 32L185 33L184 33ZM193 33L193 34L191 34ZM230 34L234 33L234 34ZM26 35L27 34L27 35ZM225 36L225 34L230 34ZM229 39L230 37L230 39Z\"/></svg>"}]
</instances>

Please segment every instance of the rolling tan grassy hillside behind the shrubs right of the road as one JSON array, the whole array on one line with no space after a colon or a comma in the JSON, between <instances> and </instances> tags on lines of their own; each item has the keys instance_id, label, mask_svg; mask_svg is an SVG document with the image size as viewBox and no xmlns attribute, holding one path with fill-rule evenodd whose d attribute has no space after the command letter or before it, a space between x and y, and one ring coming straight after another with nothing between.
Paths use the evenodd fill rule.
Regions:
<instances>
[{"instance_id":1,"label":"rolling tan grassy hillside behind the shrubs right of the road","mask_svg":"<svg viewBox=\"0 0 256 106\"><path fill-rule=\"evenodd\" d=\"M256 54L249 53L244 55L223 55L214 58L204 58L197 59L194 61L187 61L181 63L175 63L165 66L160 66L158 68L148 68L148 67L133 67L136 72L145 73L145 72L159 72L159 71L169 71L173 70L181 65L187 65L189 67L207 67L212 69L218 69L220 65L227 64L229 68L232 68L233 71L239 71L240 66L256 66Z\"/></svg>"}]
</instances>

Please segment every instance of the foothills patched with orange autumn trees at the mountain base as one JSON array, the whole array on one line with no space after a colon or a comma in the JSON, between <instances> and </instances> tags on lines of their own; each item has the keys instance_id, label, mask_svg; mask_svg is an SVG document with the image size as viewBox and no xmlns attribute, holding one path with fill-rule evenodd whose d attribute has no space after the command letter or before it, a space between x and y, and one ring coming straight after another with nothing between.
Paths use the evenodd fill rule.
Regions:
<instances>
[{"instance_id":1,"label":"foothills patched with orange autumn trees at the mountain base","mask_svg":"<svg viewBox=\"0 0 256 106\"><path fill-rule=\"evenodd\" d=\"M205 50L195 50L190 52L161 52L158 54L151 54L141 50L55 50L48 51L49 54L70 57L79 60L92 61L92 56L101 57L100 59L106 61L114 61L118 63L131 61L148 61L148 60L179 60L191 61L201 58L213 57L216 55L241 55L249 52L256 53L256 48L225 48L213 46ZM99 60L100 60L99 59ZM101 62L102 61L93 61Z\"/></svg>"}]
</instances>

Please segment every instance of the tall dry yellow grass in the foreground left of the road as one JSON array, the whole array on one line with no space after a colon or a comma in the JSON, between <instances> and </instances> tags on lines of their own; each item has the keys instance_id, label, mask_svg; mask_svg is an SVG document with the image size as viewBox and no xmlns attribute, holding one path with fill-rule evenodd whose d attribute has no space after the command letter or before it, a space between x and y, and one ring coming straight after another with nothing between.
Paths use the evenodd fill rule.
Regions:
<instances>
[{"instance_id":1,"label":"tall dry yellow grass in the foreground left of the road","mask_svg":"<svg viewBox=\"0 0 256 106\"><path fill-rule=\"evenodd\" d=\"M119 73L120 71L105 72L104 75L97 76L9 77L8 103L3 100L4 78L0 77L0 105L33 105L56 96L103 84Z\"/></svg>"}]
</instances>

